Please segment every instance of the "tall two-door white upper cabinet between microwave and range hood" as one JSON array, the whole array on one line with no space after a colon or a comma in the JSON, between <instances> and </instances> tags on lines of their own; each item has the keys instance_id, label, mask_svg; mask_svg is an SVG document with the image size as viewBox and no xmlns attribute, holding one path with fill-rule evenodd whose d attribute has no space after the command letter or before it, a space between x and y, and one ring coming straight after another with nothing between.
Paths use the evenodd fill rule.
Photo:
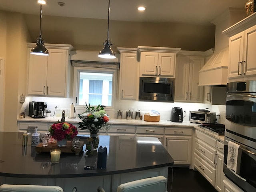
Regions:
<instances>
[{"instance_id":1,"label":"tall two-door white upper cabinet between microwave and range hood","mask_svg":"<svg viewBox=\"0 0 256 192\"><path fill-rule=\"evenodd\" d=\"M174 102L203 102L204 87L198 86L203 65L203 56L177 56Z\"/></svg>"}]
</instances>

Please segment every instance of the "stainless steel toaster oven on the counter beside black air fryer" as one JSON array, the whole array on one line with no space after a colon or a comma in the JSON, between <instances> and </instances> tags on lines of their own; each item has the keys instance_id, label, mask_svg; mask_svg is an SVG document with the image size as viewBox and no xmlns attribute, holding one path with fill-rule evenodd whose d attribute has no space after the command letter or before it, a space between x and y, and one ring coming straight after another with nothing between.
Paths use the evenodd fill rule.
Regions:
<instances>
[{"instance_id":1,"label":"stainless steel toaster oven on the counter beside black air fryer","mask_svg":"<svg viewBox=\"0 0 256 192\"><path fill-rule=\"evenodd\" d=\"M189 111L189 120L191 123L215 123L216 112L209 110Z\"/></svg>"}]
</instances>

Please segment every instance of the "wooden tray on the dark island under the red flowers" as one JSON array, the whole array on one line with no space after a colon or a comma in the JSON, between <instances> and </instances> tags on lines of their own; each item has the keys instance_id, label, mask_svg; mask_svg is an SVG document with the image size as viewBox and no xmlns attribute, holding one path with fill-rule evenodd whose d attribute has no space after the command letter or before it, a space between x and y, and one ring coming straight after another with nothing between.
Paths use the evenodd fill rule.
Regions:
<instances>
[{"instance_id":1,"label":"wooden tray on the dark island under the red flowers","mask_svg":"<svg viewBox=\"0 0 256 192\"><path fill-rule=\"evenodd\" d=\"M67 141L66 147L58 147L57 141L54 141L53 143L48 143L47 147L43 147L42 143L39 143L36 146L36 152L50 152L52 149L60 149L62 153L75 153L78 155L80 151L83 149L84 142L80 141L80 146L78 148L74 148L71 145L71 141Z\"/></svg>"}]
</instances>

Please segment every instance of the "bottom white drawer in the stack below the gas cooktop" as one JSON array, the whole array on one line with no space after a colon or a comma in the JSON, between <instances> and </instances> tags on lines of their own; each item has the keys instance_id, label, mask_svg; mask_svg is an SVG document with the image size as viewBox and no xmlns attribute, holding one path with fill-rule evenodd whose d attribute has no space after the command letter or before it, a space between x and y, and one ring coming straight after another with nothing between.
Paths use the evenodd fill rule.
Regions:
<instances>
[{"instance_id":1,"label":"bottom white drawer in the stack below the gas cooktop","mask_svg":"<svg viewBox=\"0 0 256 192\"><path fill-rule=\"evenodd\" d=\"M215 186L216 170L196 153L194 153L194 167L210 182L210 184Z\"/></svg>"}]
</instances>

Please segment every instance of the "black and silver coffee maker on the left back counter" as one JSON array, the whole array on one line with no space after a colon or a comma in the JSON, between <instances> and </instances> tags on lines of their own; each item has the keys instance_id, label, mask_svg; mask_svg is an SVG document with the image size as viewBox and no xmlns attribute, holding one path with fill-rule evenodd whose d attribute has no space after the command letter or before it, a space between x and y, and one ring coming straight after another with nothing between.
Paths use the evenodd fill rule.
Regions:
<instances>
[{"instance_id":1,"label":"black and silver coffee maker on the left back counter","mask_svg":"<svg viewBox=\"0 0 256 192\"><path fill-rule=\"evenodd\" d=\"M46 103L42 101L30 101L29 102L29 116L32 118L45 118L44 110L46 109Z\"/></svg>"}]
</instances>

